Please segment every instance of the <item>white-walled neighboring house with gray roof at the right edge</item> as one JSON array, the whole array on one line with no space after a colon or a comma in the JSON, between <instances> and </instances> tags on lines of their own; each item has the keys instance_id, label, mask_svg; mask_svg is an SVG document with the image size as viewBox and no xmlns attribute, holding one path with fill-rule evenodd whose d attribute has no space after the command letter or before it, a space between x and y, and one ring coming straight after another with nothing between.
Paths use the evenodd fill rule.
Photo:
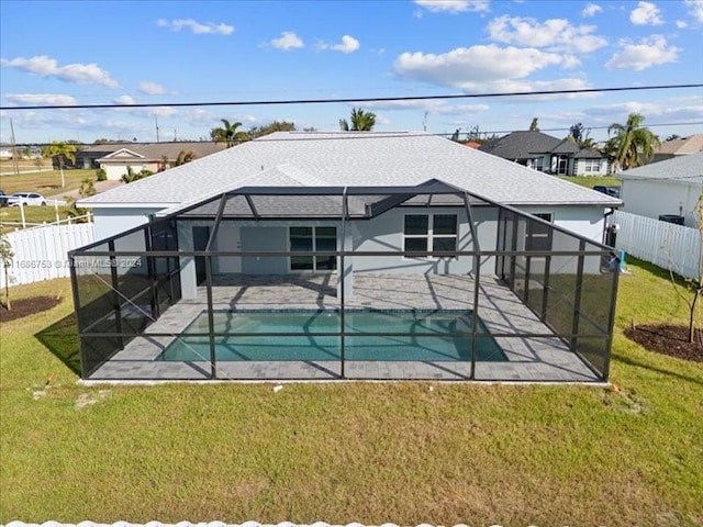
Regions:
<instances>
[{"instance_id":1,"label":"white-walled neighboring house with gray roof at the right edge","mask_svg":"<svg viewBox=\"0 0 703 527\"><path fill-rule=\"evenodd\" d=\"M703 192L703 152L632 168L618 176L623 179L625 212L654 218L681 216L684 225L695 226L695 205Z\"/></svg>"}]
</instances>

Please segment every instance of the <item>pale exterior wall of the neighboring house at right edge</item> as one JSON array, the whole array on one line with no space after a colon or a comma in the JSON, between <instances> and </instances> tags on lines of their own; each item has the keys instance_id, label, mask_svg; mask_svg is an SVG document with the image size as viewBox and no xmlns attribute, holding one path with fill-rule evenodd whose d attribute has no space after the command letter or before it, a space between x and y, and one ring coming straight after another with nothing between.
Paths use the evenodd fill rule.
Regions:
<instances>
[{"instance_id":1,"label":"pale exterior wall of the neighboring house at right edge","mask_svg":"<svg viewBox=\"0 0 703 527\"><path fill-rule=\"evenodd\" d=\"M623 180L623 210L632 214L659 218L660 214L684 217L684 225L695 227L695 204L703 191L700 183Z\"/></svg>"}]
</instances>

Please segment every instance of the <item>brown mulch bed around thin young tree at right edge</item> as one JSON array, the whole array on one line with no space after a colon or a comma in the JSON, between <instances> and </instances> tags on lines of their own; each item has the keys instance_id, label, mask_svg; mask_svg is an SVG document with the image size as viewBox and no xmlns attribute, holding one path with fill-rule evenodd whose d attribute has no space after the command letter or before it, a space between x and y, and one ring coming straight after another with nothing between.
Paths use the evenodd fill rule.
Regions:
<instances>
[{"instance_id":1,"label":"brown mulch bed around thin young tree at right edge","mask_svg":"<svg viewBox=\"0 0 703 527\"><path fill-rule=\"evenodd\" d=\"M650 351L679 359L703 362L701 343L689 343L689 328L666 324L641 325L625 329L625 336Z\"/></svg>"}]
</instances>

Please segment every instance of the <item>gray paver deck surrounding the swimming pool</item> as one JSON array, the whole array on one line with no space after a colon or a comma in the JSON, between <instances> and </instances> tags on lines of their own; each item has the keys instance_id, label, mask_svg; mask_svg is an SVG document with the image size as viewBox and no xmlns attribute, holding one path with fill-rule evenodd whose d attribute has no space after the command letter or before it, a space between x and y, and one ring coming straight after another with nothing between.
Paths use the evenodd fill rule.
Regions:
<instances>
[{"instance_id":1,"label":"gray paver deck surrounding the swimming pool","mask_svg":"<svg viewBox=\"0 0 703 527\"><path fill-rule=\"evenodd\" d=\"M298 277L216 277L215 310L333 310L339 307L335 274ZM472 310L475 280L447 274L357 274L352 309ZM134 338L88 380L205 380L211 378L208 357L202 361L158 360L163 350L203 311L205 288L198 298L181 300ZM347 295L348 296L348 295ZM534 313L493 277L481 279L479 316L495 336L506 361L476 362L473 380L510 382L598 382L600 379L568 346L553 335ZM169 334L171 336L156 336ZM521 336L544 335L539 337ZM150 336L149 336L150 335ZM469 380L471 363L462 361L219 361L216 379L276 380Z\"/></svg>"}]
</instances>

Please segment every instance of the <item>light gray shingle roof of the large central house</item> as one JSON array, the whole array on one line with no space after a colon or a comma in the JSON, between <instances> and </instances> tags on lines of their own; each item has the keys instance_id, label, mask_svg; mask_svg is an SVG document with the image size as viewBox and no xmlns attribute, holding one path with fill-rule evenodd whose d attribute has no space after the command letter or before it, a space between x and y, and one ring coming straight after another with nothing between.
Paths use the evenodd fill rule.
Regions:
<instances>
[{"instance_id":1,"label":"light gray shingle roof of the large central house","mask_svg":"<svg viewBox=\"0 0 703 527\"><path fill-rule=\"evenodd\" d=\"M443 137L371 132L277 132L79 203L169 206L245 186L411 187L431 179L506 204L620 203Z\"/></svg>"}]
</instances>

